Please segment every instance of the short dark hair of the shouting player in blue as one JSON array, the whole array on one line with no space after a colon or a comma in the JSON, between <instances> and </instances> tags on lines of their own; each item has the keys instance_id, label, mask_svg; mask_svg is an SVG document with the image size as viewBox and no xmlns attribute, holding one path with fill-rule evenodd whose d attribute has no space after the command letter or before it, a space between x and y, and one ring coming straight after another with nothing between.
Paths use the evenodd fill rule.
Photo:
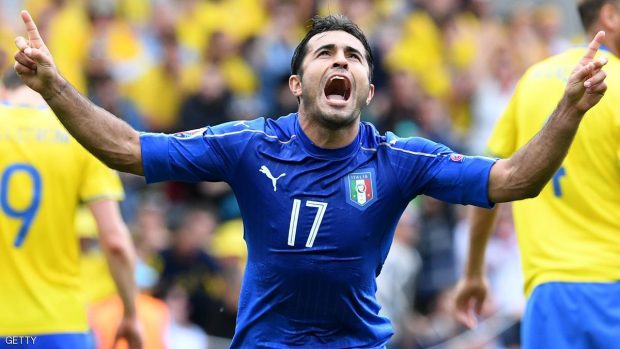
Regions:
<instances>
[{"instance_id":1,"label":"short dark hair of the shouting player in blue","mask_svg":"<svg viewBox=\"0 0 620 349\"><path fill-rule=\"evenodd\" d=\"M370 68L368 79L372 81L374 58L372 56L372 51L370 49L370 45L368 44L368 40L357 24L342 15L329 15L325 17L314 16L310 22L310 30L306 33L306 36L304 36L299 45L297 45L297 48L295 48L295 53L291 59L291 74L302 75L301 63L307 53L308 41L310 41L313 36L328 31L341 30L353 35L362 43L362 45L364 45L364 48L366 49L366 61L368 62L368 67Z\"/></svg>"}]
</instances>

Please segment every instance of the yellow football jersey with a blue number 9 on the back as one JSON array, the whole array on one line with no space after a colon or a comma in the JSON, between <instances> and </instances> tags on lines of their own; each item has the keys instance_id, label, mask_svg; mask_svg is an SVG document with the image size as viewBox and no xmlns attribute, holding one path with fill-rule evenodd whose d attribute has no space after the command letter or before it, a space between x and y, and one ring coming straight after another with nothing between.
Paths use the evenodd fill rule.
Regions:
<instances>
[{"instance_id":1,"label":"yellow football jersey with a blue number 9 on the back","mask_svg":"<svg viewBox=\"0 0 620 349\"><path fill-rule=\"evenodd\" d=\"M0 336L86 331L76 206L123 196L118 175L49 109L0 106Z\"/></svg>"}]
</instances>

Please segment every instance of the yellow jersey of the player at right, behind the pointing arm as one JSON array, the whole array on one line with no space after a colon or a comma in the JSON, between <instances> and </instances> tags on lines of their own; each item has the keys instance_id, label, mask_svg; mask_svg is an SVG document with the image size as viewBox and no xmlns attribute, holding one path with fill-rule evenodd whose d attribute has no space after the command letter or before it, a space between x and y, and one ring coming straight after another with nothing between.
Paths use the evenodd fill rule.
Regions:
<instances>
[{"instance_id":1,"label":"yellow jersey of the player at right, behind the pointing arm","mask_svg":"<svg viewBox=\"0 0 620 349\"><path fill-rule=\"evenodd\" d=\"M508 157L545 124L584 54L571 49L532 66L489 140ZM620 280L620 59L608 90L585 116L561 168L540 196L513 204L526 295L541 283Z\"/></svg>"}]
</instances>

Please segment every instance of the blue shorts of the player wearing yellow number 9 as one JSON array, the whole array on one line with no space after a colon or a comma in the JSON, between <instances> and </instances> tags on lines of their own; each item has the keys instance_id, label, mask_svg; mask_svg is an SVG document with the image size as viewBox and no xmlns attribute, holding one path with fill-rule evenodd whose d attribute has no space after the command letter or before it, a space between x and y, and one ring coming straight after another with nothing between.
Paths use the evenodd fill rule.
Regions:
<instances>
[{"instance_id":1,"label":"blue shorts of the player wearing yellow number 9","mask_svg":"<svg viewBox=\"0 0 620 349\"><path fill-rule=\"evenodd\" d=\"M0 337L0 349L94 349L91 333L35 334Z\"/></svg>"}]
</instances>

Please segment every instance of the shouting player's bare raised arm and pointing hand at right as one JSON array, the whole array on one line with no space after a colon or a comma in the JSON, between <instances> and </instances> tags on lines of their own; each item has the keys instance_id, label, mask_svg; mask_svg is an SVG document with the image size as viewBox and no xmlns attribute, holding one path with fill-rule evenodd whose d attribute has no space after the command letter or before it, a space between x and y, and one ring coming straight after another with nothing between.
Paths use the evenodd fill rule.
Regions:
<instances>
[{"instance_id":1,"label":"shouting player's bare raised arm and pointing hand at right","mask_svg":"<svg viewBox=\"0 0 620 349\"><path fill-rule=\"evenodd\" d=\"M594 59L603 39L598 32L571 73L564 96L543 129L511 158L491 169L489 199L493 202L537 196L561 165L584 114L607 90L602 67L606 57Z\"/></svg>"}]
</instances>

